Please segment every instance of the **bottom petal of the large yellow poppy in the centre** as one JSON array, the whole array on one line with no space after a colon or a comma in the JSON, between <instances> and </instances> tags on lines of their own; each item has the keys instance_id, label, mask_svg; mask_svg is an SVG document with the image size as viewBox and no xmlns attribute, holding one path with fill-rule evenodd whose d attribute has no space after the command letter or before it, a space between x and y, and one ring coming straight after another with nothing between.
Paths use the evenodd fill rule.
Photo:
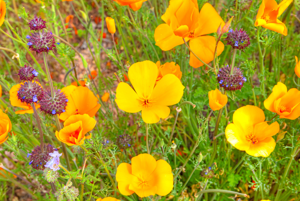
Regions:
<instances>
[{"instance_id":1,"label":"bottom petal of the large yellow poppy in the centre","mask_svg":"<svg viewBox=\"0 0 300 201\"><path fill-rule=\"evenodd\" d=\"M160 118L167 118L170 114L170 108L168 106L153 105L148 108L143 108L142 118L145 123L154 124L157 123Z\"/></svg>"}]
</instances>

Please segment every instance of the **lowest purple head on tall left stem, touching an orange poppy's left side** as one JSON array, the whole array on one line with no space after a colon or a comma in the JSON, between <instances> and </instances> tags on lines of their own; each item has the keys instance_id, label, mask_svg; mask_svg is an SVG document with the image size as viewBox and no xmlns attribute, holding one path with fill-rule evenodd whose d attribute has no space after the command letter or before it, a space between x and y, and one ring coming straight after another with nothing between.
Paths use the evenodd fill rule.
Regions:
<instances>
[{"instance_id":1,"label":"lowest purple head on tall left stem, touching an orange poppy's left side","mask_svg":"<svg viewBox=\"0 0 300 201\"><path fill-rule=\"evenodd\" d=\"M46 114L54 115L65 112L67 102L66 95L59 89L54 89L54 96L51 97L51 91L45 91L44 98L40 100L40 109Z\"/></svg>"}]
</instances>

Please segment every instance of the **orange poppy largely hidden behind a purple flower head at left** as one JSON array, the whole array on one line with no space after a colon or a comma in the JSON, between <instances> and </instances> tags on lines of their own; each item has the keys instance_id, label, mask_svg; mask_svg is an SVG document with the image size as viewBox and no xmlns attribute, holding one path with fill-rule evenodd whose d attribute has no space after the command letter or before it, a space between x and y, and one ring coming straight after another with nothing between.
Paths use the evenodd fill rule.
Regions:
<instances>
[{"instance_id":1,"label":"orange poppy largely hidden behind a purple flower head at left","mask_svg":"<svg viewBox=\"0 0 300 201\"><path fill-rule=\"evenodd\" d=\"M32 81L32 82L35 82L35 81ZM38 82L37 82L38 83ZM41 85L40 83L38 83L39 85ZM31 107L30 104L26 104L26 103L22 103L21 100L18 99L18 90L19 88L21 87L21 85L24 85L23 82L21 82L20 84L17 84L17 85L13 85L12 88L9 90L9 100L10 100L10 104L12 106L15 106L15 107L21 107L25 110L18 110L16 111L15 113L16 114L25 114L25 113L29 113L29 114L32 114L33 113L33 109ZM35 104L35 109L38 109L40 107L40 104Z\"/></svg>"}]
</instances>

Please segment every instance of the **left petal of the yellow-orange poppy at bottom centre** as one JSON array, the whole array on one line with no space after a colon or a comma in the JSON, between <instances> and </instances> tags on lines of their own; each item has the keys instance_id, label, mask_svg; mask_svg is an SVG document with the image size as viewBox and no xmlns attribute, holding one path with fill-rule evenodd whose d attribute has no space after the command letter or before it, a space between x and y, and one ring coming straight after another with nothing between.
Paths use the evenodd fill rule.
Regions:
<instances>
[{"instance_id":1,"label":"left petal of the yellow-orange poppy at bottom centre","mask_svg":"<svg viewBox=\"0 0 300 201\"><path fill-rule=\"evenodd\" d=\"M136 176L131 174L130 164L123 162L118 166L116 180L118 181L118 189L122 195L128 196L134 193L133 190L129 190L129 185L134 178Z\"/></svg>"}]
</instances>

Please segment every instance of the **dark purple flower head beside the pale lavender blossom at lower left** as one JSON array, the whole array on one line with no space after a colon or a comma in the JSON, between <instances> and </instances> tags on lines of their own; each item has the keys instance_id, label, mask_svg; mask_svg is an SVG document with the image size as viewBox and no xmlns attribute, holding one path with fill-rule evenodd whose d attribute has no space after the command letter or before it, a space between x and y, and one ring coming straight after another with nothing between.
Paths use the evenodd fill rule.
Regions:
<instances>
[{"instance_id":1,"label":"dark purple flower head beside the pale lavender blossom at lower left","mask_svg":"<svg viewBox=\"0 0 300 201\"><path fill-rule=\"evenodd\" d=\"M41 152L40 146L35 147L32 150L29 165L32 165L32 168L34 168L34 169L37 169L37 170L42 169L43 170L44 165L46 165L46 162L49 161L51 158L51 156L49 156L49 153L53 153L53 151L54 151L54 148L50 144L48 144L48 145L44 144L44 153Z\"/></svg>"}]
</instances>

